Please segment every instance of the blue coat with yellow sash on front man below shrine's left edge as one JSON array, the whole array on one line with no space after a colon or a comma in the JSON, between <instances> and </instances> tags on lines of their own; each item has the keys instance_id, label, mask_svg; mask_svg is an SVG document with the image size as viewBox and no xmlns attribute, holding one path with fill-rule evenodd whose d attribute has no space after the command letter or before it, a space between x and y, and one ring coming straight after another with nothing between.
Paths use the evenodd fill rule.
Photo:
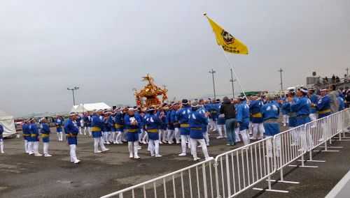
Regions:
<instances>
[{"instance_id":1,"label":"blue coat with yellow sash on front man below shrine's left edge","mask_svg":"<svg viewBox=\"0 0 350 198\"><path fill-rule=\"evenodd\" d=\"M137 121L137 125L132 125L132 121ZM127 130L127 142L139 141L141 117L137 116L137 114L134 114L134 116L129 116L129 114L125 114L124 123L125 123L125 128Z\"/></svg>"}]
</instances>

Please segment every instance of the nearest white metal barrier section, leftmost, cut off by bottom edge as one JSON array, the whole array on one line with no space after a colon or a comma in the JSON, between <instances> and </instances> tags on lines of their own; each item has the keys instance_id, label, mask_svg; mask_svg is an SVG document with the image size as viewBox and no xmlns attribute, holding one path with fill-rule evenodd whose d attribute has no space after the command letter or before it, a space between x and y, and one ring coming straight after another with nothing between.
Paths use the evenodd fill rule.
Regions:
<instances>
[{"instance_id":1,"label":"nearest white metal barrier section, leftmost, cut off by bottom edge","mask_svg":"<svg viewBox=\"0 0 350 198\"><path fill-rule=\"evenodd\" d=\"M153 178L107 197L214 197L214 159L199 162L176 172Z\"/></svg>"}]
</instances>

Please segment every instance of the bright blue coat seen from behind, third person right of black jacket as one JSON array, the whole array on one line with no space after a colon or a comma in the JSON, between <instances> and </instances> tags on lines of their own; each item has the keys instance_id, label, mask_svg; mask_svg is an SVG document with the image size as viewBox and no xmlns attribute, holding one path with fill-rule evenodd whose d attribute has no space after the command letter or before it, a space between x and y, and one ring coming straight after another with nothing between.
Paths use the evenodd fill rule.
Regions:
<instances>
[{"instance_id":1,"label":"bright blue coat seen from behind, third person right of black jacket","mask_svg":"<svg viewBox=\"0 0 350 198\"><path fill-rule=\"evenodd\" d=\"M274 136L280 132L279 104L272 100L262 106L262 119L264 120L265 135Z\"/></svg>"}]
</instances>

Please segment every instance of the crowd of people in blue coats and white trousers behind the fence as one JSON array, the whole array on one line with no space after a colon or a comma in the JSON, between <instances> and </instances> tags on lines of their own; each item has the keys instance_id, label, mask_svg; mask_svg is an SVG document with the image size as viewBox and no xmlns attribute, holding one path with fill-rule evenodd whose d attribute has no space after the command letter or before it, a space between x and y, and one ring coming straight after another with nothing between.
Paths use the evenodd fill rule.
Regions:
<instances>
[{"instance_id":1,"label":"crowd of people in blue coats and white trousers behind the fence","mask_svg":"<svg viewBox=\"0 0 350 198\"><path fill-rule=\"evenodd\" d=\"M160 158L161 144L180 144L180 156L188 154L200 160L197 147L209 156L209 132L217 133L217 139L227 139L228 146L238 142L244 145L256 139L274 136L282 124L295 128L309 121L323 118L348 106L349 90L289 89L285 96L267 94L246 98L225 97L223 100L186 100L148 108L120 107L114 110L69 114L68 119L57 116L55 128L57 141L70 147L71 162L80 162L76 156L78 135L90 135L94 153L109 151L108 144L127 144L130 158L139 159L141 144L148 144L151 156ZM349 101L350 102L350 101ZM3 152L3 128L0 125L0 152ZM42 156L39 141L43 142L43 155L50 157L50 126L43 118L28 119L22 123L25 153ZM212 133L211 133L212 134Z\"/></svg>"}]
</instances>

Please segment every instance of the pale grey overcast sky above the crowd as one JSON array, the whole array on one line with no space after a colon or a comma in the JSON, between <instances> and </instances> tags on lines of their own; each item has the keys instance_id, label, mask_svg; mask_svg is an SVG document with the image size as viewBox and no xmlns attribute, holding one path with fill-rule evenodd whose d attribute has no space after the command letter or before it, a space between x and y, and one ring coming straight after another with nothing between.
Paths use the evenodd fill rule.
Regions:
<instances>
[{"instance_id":1,"label":"pale grey overcast sky above the crowd","mask_svg":"<svg viewBox=\"0 0 350 198\"><path fill-rule=\"evenodd\" d=\"M15 116L69 111L77 102L134 104L151 73L169 98L231 93L230 68L202 13L242 40L228 57L244 89L305 84L350 67L349 0L1 1L0 109ZM237 83L236 87L238 89ZM238 92L238 90L236 91Z\"/></svg>"}]
</instances>

